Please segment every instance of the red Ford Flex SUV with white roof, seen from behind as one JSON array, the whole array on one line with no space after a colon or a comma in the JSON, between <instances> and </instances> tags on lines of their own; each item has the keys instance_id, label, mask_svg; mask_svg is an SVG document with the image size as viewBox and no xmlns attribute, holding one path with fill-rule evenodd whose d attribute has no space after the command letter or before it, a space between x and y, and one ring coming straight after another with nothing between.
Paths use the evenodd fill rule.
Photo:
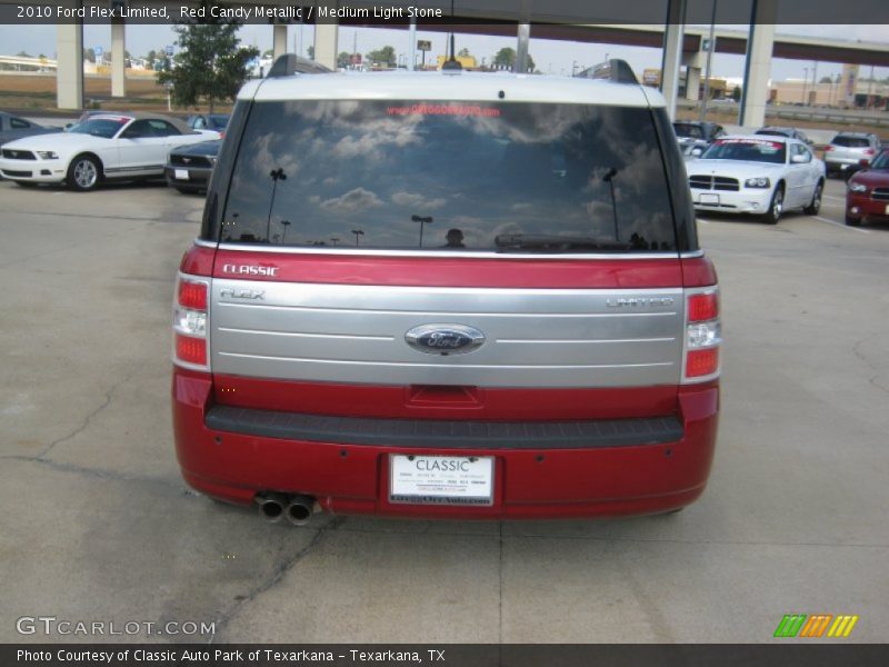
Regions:
<instances>
[{"instance_id":1,"label":"red Ford Flex SUV with white roof, seen from behind","mask_svg":"<svg viewBox=\"0 0 889 667\"><path fill-rule=\"evenodd\" d=\"M698 498L719 292L663 98L620 61L573 79L288 62L241 90L179 270L187 481L294 524Z\"/></svg>"}]
</instances>

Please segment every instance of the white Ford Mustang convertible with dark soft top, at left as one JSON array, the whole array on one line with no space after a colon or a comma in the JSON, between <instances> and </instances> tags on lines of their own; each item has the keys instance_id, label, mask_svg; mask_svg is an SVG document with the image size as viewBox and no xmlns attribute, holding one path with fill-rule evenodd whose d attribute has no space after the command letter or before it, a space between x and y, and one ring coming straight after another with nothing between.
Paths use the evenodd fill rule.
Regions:
<instances>
[{"instance_id":1,"label":"white Ford Mustang convertible with dark soft top, at left","mask_svg":"<svg viewBox=\"0 0 889 667\"><path fill-rule=\"evenodd\" d=\"M218 138L164 116L102 113L67 132L4 143L0 175L21 186L66 182L92 190L104 179L162 177L171 148Z\"/></svg>"}]
</instances>

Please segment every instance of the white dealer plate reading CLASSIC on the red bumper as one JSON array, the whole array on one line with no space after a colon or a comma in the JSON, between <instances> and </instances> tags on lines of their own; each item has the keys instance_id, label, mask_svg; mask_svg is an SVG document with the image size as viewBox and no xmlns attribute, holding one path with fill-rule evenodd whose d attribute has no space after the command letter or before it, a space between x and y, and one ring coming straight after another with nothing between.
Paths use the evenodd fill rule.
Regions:
<instances>
[{"instance_id":1,"label":"white dealer plate reading CLASSIC on the red bumper","mask_svg":"<svg viewBox=\"0 0 889 667\"><path fill-rule=\"evenodd\" d=\"M389 457L389 501L419 505L493 504L493 457Z\"/></svg>"}]
</instances>

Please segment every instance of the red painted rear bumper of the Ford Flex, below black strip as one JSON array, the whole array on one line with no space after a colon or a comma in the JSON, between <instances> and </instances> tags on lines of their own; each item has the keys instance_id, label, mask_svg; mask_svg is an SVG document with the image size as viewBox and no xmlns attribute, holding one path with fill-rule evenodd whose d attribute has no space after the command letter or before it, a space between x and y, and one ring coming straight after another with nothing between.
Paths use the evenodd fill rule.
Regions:
<instances>
[{"instance_id":1,"label":"red painted rear bumper of the Ford Flex, below black strip","mask_svg":"<svg viewBox=\"0 0 889 667\"><path fill-rule=\"evenodd\" d=\"M216 498L250 504L258 491L314 496L334 514L427 518L556 518L623 516L677 509L703 491L716 442L716 382L682 387L681 434L653 444L589 448L556 442L539 447L424 447L354 444L232 432L208 426L209 376L173 371L173 430L182 475ZM214 420L211 419L211 422ZM216 420L216 424L220 422ZM626 440L625 440L626 441ZM389 455L495 457L490 507L389 502Z\"/></svg>"}]
</instances>

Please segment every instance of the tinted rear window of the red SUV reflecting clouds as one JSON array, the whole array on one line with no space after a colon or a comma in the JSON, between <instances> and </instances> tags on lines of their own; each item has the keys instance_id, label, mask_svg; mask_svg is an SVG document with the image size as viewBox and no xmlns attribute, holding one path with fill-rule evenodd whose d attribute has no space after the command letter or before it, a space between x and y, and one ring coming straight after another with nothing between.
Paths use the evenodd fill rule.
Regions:
<instances>
[{"instance_id":1,"label":"tinted rear window of the red SUV reflecting clouds","mask_svg":"<svg viewBox=\"0 0 889 667\"><path fill-rule=\"evenodd\" d=\"M501 252L676 248L648 109L257 102L220 239Z\"/></svg>"}]
</instances>

